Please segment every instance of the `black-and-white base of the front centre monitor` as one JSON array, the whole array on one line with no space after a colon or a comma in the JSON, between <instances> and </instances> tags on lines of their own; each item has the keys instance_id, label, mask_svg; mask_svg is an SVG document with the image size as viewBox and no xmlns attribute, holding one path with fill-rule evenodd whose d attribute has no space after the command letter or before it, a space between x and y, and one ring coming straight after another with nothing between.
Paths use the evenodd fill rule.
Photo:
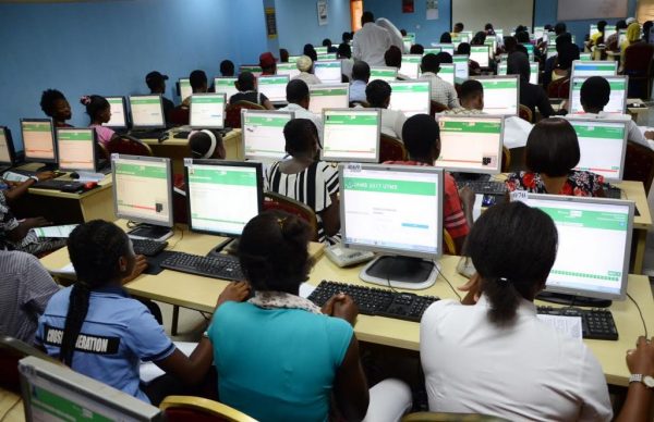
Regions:
<instances>
[{"instance_id":1,"label":"black-and-white base of the front centre monitor","mask_svg":"<svg viewBox=\"0 0 654 422\"><path fill-rule=\"evenodd\" d=\"M365 265L359 277L386 287L421 290L436 283L438 264L421 258L382 256Z\"/></svg>"}]
</instances>

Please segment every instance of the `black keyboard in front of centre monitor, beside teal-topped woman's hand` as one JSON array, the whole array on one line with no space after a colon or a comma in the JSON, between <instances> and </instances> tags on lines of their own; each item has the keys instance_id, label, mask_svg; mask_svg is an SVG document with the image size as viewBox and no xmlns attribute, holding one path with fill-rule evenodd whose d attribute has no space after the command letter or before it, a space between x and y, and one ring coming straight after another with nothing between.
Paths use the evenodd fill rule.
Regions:
<instances>
[{"instance_id":1,"label":"black keyboard in front of centre monitor, beside teal-topped woman's hand","mask_svg":"<svg viewBox=\"0 0 654 422\"><path fill-rule=\"evenodd\" d=\"M352 297L359 311L366 315L379 315L420 322L422 314L439 298L417 296L412 293L391 291L377 287L322 281L308 296L308 300L322 307L334 295L343 293Z\"/></svg>"}]
</instances>

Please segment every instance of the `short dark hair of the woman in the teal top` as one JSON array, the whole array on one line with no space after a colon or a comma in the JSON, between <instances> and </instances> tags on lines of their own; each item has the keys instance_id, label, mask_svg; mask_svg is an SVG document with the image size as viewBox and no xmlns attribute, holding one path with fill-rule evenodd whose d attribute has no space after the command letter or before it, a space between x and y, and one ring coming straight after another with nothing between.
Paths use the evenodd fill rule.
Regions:
<instances>
[{"instance_id":1,"label":"short dark hair of the woman in the teal top","mask_svg":"<svg viewBox=\"0 0 654 422\"><path fill-rule=\"evenodd\" d=\"M298 294L312 266L310 238L308 224L286 212L266 211L250 220L239 243L239 260L255 290Z\"/></svg>"}]
</instances>

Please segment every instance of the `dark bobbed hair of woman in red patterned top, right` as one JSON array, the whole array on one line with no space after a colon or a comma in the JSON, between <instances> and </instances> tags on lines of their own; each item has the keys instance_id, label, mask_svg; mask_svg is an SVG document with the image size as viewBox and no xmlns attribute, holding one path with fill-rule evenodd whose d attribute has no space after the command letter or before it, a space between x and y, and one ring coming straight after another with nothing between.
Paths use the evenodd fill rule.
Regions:
<instances>
[{"instance_id":1,"label":"dark bobbed hair of woman in red patterned top, right","mask_svg":"<svg viewBox=\"0 0 654 422\"><path fill-rule=\"evenodd\" d=\"M526 138L524 163L532 172L561 177L579 164L579 158L577 133L565 119L540 121Z\"/></svg>"}]
</instances>

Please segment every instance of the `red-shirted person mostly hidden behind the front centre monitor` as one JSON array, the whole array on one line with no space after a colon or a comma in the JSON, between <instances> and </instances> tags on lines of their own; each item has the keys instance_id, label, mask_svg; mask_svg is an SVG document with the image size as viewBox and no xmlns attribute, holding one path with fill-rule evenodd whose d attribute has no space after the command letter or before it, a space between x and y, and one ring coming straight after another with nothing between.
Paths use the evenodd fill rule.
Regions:
<instances>
[{"instance_id":1,"label":"red-shirted person mostly hidden behind the front centre monitor","mask_svg":"<svg viewBox=\"0 0 654 422\"><path fill-rule=\"evenodd\" d=\"M440 131L438 123L428 114L415 114L402 127L402 139L409 152L409 161L387 161L386 164L434 165L440 154ZM461 250L472 226L474 194L470 188L457 189L455 178L445 173L445 199L443 228L447 229L457 250ZM461 196L459 196L461 194Z\"/></svg>"}]
</instances>

